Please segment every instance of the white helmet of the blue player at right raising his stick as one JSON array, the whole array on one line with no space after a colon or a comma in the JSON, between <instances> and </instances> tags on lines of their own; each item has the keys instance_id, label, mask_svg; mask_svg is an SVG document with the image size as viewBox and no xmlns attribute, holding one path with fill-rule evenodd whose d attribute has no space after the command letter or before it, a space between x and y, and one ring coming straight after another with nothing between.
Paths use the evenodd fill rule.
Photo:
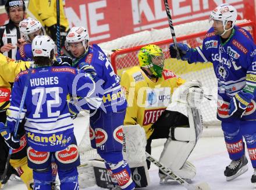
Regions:
<instances>
[{"instance_id":1,"label":"white helmet of the blue player at right raising his stick","mask_svg":"<svg viewBox=\"0 0 256 190\"><path fill-rule=\"evenodd\" d=\"M212 10L209 21L211 20L222 21L223 28L224 28L223 34L225 34L226 31L228 31L225 29L227 22L232 21L232 27L229 29L231 30L234 27L234 24L236 23L236 18L237 18L236 9L232 5L223 3L217 6L214 10Z\"/></svg>"}]
</instances>

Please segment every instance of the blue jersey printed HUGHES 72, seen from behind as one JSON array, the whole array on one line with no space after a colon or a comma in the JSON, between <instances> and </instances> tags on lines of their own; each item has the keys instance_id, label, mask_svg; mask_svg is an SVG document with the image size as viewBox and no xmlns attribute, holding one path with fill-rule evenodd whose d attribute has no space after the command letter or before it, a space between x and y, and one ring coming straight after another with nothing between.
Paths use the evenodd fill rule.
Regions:
<instances>
[{"instance_id":1,"label":"blue jersey printed HUGHES 72, seen from behind","mask_svg":"<svg viewBox=\"0 0 256 190\"><path fill-rule=\"evenodd\" d=\"M14 130L28 70L16 76L7 125ZM26 117L28 144L37 151L65 149L73 140L73 121L67 106L67 94L94 98L95 82L72 67L38 67L31 72L21 120Z\"/></svg>"}]
</instances>

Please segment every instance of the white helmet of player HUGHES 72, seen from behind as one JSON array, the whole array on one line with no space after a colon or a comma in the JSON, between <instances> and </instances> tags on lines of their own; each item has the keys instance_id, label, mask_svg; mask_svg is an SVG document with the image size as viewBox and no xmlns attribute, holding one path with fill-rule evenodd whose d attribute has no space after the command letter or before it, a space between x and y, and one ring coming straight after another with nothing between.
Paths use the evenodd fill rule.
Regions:
<instances>
[{"instance_id":1,"label":"white helmet of player HUGHES 72, seen from behind","mask_svg":"<svg viewBox=\"0 0 256 190\"><path fill-rule=\"evenodd\" d=\"M54 41L47 35L35 36L32 41L32 52L34 57L42 56L51 59L51 51L57 52Z\"/></svg>"}]
</instances>

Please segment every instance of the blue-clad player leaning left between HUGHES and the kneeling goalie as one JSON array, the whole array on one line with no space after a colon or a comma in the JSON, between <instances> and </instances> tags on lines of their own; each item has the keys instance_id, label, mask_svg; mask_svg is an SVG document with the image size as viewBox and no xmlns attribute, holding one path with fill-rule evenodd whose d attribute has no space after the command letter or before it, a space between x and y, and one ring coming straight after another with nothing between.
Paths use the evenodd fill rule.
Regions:
<instances>
[{"instance_id":1,"label":"blue-clad player leaning left between HUGHES and the kneeling goalie","mask_svg":"<svg viewBox=\"0 0 256 190\"><path fill-rule=\"evenodd\" d=\"M133 189L134 183L127 162L123 160L123 120L126 113L125 94L120 86L119 76L98 45L89 45L86 28L73 27L66 36L66 48L75 57L74 68L90 64L95 68L98 79L102 79L104 95L102 105L90 111L91 146L105 160L106 168L112 173L120 188ZM83 107L82 107L83 108ZM120 174L126 177L120 177Z\"/></svg>"}]
</instances>

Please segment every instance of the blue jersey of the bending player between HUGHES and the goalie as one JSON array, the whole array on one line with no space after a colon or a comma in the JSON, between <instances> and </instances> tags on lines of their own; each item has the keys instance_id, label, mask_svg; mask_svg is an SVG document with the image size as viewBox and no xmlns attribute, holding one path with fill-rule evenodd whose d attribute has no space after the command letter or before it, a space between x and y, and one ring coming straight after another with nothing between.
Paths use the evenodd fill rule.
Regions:
<instances>
[{"instance_id":1,"label":"blue jersey of the bending player between HUGHES and the goalie","mask_svg":"<svg viewBox=\"0 0 256 190\"><path fill-rule=\"evenodd\" d=\"M79 64L88 63L92 65L97 72L97 79L103 80L102 97L103 106L100 109L104 111L117 112L127 107L125 93L120 86L120 78L113 71L113 67L106 57L105 53L98 45L89 46L88 52L83 56L74 59L73 67L79 68ZM83 108L83 107L82 107Z\"/></svg>"}]
</instances>

